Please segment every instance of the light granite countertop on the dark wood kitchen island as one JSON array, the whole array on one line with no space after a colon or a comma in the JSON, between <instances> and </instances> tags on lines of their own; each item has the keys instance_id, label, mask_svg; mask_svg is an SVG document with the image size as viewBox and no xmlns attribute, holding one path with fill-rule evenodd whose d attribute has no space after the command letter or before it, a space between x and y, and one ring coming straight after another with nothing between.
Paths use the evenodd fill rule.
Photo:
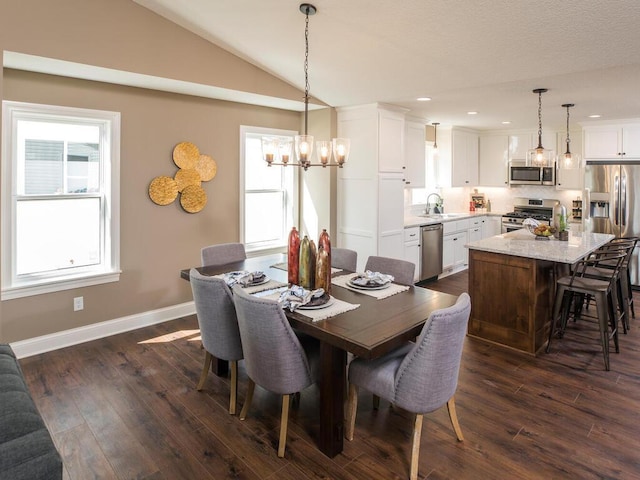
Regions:
<instances>
[{"instance_id":1,"label":"light granite countertop on the dark wood kitchen island","mask_svg":"<svg viewBox=\"0 0 640 480\"><path fill-rule=\"evenodd\" d=\"M569 240L536 240L526 228L503 233L494 237L476 240L465 245L470 250L501 253L516 257L548 260L573 264L606 244L614 236L608 233L574 233L569 231Z\"/></svg>"}]
</instances>

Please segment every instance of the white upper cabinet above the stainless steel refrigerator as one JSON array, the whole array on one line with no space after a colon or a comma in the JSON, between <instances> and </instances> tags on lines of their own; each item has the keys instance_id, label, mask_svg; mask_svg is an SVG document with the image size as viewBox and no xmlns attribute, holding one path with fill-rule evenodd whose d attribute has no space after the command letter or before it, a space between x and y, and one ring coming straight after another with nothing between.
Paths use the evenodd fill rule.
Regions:
<instances>
[{"instance_id":1,"label":"white upper cabinet above the stainless steel refrigerator","mask_svg":"<svg viewBox=\"0 0 640 480\"><path fill-rule=\"evenodd\" d=\"M639 160L640 123L584 127L586 160Z\"/></svg>"}]
</instances>

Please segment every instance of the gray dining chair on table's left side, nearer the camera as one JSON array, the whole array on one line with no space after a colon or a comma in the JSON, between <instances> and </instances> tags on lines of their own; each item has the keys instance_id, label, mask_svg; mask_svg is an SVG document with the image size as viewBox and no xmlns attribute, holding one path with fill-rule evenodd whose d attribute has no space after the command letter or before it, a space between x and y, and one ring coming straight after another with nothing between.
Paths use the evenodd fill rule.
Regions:
<instances>
[{"instance_id":1,"label":"gray dining chair on table's left side, nearer the camera","mask_svg":"<svg viewBox=\"0 0 640 480\"><path fill-rule=\"evenodd\" d=\"M278 457L284 457L291 396L315 383L319 344L296 336L278 302L251 296L239 286L233 288L233 300L249 377L240 420L247 416L256 384L282 395Z\"/></svg>"}]
</instances>

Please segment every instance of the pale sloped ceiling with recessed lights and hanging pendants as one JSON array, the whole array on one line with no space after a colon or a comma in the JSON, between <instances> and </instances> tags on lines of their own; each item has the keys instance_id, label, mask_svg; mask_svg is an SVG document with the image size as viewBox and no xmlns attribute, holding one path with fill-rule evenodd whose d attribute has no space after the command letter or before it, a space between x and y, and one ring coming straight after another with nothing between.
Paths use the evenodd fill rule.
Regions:
<instances>
[{"instance_id":1,"label":"pale sloped ceiling with recessed lights and hanging pendants","mask_svg":"<svg viewBox=\"0 0 640 480\"><path fill-rule=\"evenodd\" d=\"M304 90L296 0L134 0ZM640 118L638 0L315 0L310 95L479 130ZM431 101L418 102L418 97ZM476 115L467 112L476 111ZM503 125L503 121L510 121Z\"/></svg>"}]
</instances>

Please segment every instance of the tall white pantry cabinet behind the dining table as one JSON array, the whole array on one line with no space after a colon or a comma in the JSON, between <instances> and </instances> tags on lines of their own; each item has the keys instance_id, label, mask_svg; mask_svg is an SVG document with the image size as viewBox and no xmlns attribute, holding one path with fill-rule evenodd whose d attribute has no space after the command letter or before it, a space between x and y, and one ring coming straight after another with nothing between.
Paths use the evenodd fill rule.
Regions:
<instances>
[{"instance_id":1,"label":"tall white pantry cabinet behind the dining table","mask_svg":"<svg viewBox=\"0 0 640 480\"><path fill-rule=\"evenodd\" d=\"M404 111L379 104L338 109L338 136L351 139L338 169L337 242L370 255L404 257Z\"/></svg>"}]
</instances>

